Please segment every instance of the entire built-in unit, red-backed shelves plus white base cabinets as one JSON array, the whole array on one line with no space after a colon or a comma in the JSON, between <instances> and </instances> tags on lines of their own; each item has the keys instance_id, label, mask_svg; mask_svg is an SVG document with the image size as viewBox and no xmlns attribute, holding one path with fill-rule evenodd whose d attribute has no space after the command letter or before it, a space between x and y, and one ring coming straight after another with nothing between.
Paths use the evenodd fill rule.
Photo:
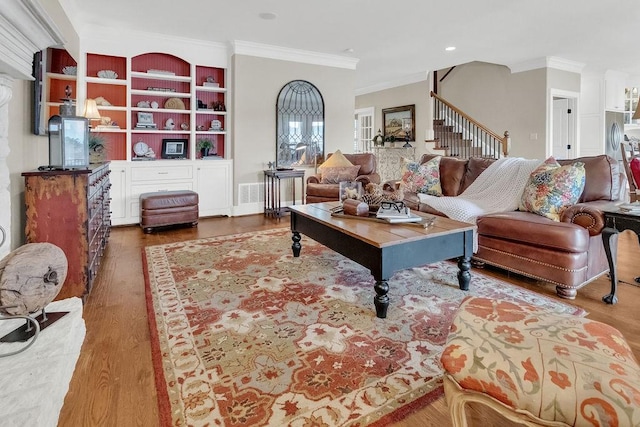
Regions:
<instances>
[{"instance_id":1,"label":"entire built-in unit, red-backed shelves plus white base cabinets","mask_svg":"<svg viewBox=\"0 0 640 427\"><path fill-rule=\"evenodd\" d=\"M201 216L231 215L226 69L159 52L89 52L85 59L78 84L86 85L85 98L97 100L102 117L91 132L105 141L111 161L112 224L139 222L140 194L165 190L197 191ZM203 138L212 141L215 160L202 160ZM186 141L184 155L162 159L163 140ZM134 152L139 142L155 158Z\"/></svg>"}]
</instances>

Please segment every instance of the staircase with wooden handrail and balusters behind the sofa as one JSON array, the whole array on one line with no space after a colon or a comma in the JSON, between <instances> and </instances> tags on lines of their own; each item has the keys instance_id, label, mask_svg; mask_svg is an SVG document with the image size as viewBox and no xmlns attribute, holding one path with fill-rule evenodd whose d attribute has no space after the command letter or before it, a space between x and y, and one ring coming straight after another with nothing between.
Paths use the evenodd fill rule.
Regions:
<instances>
[{"instance_id":1,"label":"staircase with wooden handrail and balusters behind the sofa","mask_svg":"<svg viewBox=\"0 0 640 427\"><path fill-rule=\"evenodd\" d=\"M509 132L505 131L504 136L500 136L434 92L431 92L431 97L434 98L434 150L442 150L445 156L461 159L497 159L509 154Z\"/></svg>"}]
</instances>

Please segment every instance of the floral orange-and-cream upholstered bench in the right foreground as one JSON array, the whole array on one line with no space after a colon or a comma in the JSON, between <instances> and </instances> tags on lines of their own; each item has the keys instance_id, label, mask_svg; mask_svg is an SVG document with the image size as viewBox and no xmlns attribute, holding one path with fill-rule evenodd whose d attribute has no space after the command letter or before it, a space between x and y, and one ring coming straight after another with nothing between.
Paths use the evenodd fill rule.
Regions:
<instances>
[{"instance_id":1,"label":"floral orange-and-cream upholstered bench in the right foreground","mask_svg":"<svg viewBox=\"0 0 640 427\"><path fill-rule=\"evenodd\" d=\"M454 426L479 402L544 426L640 426L640 367L604 323L468 297L441 357Z\"/></svg>"}]
</instances>

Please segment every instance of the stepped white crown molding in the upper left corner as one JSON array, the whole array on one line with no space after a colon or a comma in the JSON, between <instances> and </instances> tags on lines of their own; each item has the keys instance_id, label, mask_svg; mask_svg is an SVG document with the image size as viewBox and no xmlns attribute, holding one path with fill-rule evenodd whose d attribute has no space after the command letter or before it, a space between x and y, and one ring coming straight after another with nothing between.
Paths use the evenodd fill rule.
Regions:
<instances>
[{"instance_id":1,"label":"stepped white crown molding in the upper left corner","mask_svg":"<svg viewBox=\"0 0 640 427\"><path fill-rule=\"evenodd\" d=\"M0 73L33 80L33 54L64 42L36 0L3 0L0 9Z\"/></svg>"}]
</instances>

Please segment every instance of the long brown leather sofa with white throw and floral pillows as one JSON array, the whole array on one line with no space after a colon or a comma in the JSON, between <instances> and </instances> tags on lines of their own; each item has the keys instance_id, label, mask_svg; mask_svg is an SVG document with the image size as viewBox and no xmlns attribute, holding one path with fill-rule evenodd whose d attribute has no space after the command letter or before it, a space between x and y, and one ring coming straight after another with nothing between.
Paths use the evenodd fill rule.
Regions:
<instances>
[{"instance_id":1,"label":"long brown leather sofa with white throw and floral pillows","mask_svg":"<svg viewBox=\"0 0 640 427\"><path fill-rule=\"evenodd\" d=\"M435 157L425 154L420 162ZM445 196L462 193L494 160L443 157L440 180ZM613 158L601 155L558 160L581 161L586 181L579 202L566 209L560 222L529 212L505 212L478 218L478 251L473 259L523 276L551 282L559 296L574 299L577 290L608 272L602 243L604 215L612 201L624 200L626 178ZM405 193L412 209L441 214Z\"/></svg>"}]
</instances>

